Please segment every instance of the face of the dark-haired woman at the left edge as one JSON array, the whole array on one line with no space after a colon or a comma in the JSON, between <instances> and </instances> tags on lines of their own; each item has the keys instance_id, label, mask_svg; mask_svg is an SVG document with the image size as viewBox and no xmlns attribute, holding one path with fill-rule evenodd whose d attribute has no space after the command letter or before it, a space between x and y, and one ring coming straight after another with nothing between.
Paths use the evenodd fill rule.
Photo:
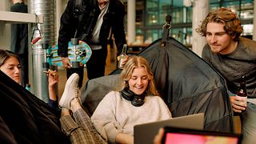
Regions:
<instances>
[{"instance_id":1,"label":"face of the dark-haired woman at the left edge","mask_svg":"<svg viewBox=\"0 0 256 144\"><path fill-rule=\"evenodd\" d=\"M0 70L12 78L15 82L21 84L21 65L17 58L7 58L3 65L0 67Z\"/></svg>"}]
</instances>

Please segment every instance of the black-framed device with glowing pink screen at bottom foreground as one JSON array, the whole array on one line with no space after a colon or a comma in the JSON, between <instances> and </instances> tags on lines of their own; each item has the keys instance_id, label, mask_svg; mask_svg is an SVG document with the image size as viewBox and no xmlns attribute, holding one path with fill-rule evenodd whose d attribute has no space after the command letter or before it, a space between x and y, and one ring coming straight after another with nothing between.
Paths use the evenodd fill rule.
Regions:
<instances>
[{"instance_id":1,"label":"black-framed device with glowing pink screen at bottom foreground","mask_svg":"<svg viewBox=\"0 0 256 144\"><path fill-rule=\"evenodd\" d=\"M190 143L190 144L240 144L242 134L230 134L206 130L191 130L174 127L165 127L162 137L162 144L169 143Z\"/></svg>"}]
</instances>

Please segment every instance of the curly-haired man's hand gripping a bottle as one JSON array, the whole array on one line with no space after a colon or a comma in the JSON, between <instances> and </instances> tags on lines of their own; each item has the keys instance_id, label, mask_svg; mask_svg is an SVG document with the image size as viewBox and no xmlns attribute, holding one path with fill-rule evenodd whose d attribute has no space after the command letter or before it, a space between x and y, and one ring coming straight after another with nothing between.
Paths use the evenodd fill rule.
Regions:
<instances>
[{"instance_id":1,"label":"curly-haired man's hand gripping a bottle","mask_svg":"<svg viewBox=\"0 0 256 144\"><path fill-rule=\"evenodd\" d=\"M230 102L231 106L234 110L234 112L242 113L242 110L246 110L246 97L240 97L240 96L230 96Z\"/></svg>"}]
</instances>

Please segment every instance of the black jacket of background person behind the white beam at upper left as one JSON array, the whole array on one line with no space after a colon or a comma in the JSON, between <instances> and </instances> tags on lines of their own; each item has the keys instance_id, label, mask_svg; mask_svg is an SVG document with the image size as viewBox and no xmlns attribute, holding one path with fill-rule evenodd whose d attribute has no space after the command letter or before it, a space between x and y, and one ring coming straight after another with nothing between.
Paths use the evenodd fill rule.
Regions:
<instances>
[{"instance_id":1,"label":"black jacket of background person behind the white beam at upper left","mask_svg":"<svg viewBox=\"0 0 256 144\"><path fill-rule=\"evenodd\" d=\"M10 11L27 13L26 4L15 3L10 7ZM10 36L10 50L15 54L27 54L28 52L28 36L27 36L27 24L14 23L11 24L11 36Z\"/></svg>"}]
</instances>

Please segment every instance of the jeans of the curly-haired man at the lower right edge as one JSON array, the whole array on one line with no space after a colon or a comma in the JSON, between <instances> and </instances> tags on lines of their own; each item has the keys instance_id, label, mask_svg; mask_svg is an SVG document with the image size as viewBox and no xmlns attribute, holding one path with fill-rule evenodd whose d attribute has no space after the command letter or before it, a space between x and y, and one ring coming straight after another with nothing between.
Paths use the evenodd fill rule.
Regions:
<instances>
[{"instance_id":1,"label":"jeans of the curly-haired man at the lower right edge","mask_svg":"<svg viewBox=\"0 0 256 144\"><path fill-rule=\"evenodd\" d=\"M256 142L256 105L247 102L247 108L242 113L242 144Z\"/></svg>"}]
</instances>

